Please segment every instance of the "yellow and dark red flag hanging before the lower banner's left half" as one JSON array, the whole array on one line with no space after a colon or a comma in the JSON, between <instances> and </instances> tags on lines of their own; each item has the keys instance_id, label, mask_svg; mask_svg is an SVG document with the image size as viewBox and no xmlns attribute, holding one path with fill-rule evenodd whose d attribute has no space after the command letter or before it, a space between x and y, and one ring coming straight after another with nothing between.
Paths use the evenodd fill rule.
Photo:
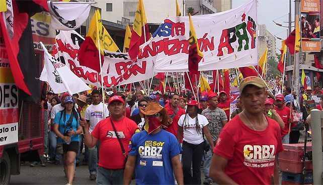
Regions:
<instances>
[{"instance_id":1,"label":"yellow and dark red flag hanging before the lower banner's left half","mask_svg":"<svg viewBox=\"0 0 323 185\"><path fill-rule=\"evenodd\" d=\"M97 10L92 17L85 41L83 41L78 50L79 64L94 69L97 72L100 72L98 39L103 40L102 31L101 16L99 10ZM102 40L100 41L100 57L104 61Z\"/></svg>"}]
</instances>

